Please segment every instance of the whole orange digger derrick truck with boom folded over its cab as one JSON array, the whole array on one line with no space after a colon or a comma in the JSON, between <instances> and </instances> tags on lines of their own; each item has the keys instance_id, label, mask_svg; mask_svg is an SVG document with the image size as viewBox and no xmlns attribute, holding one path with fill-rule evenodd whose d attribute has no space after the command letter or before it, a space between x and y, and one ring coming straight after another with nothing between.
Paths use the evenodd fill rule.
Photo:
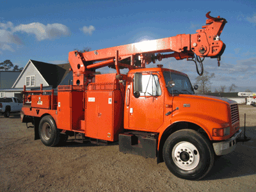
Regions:
<instances>
[{"instance_id":1,"label":"whole orange digger derrick truck with boom folded over its cab","mask_svg":"<svg viewBox=\"0 0 256 192\"><path fill-rule=\"evenodd\" d=\"M163 65L145 66L163 58L187 59L202 75L197 64L203 67L205 57L217 58L220 65L225 50L220 34L227 21L209 13L206 17L206 25L192 35L69 52L73 84L58 86L58 95L42 85L39 91L24 86L22 122L32 122L35 140L46 146L77 134L92 143L119 141L120 152L157 157L177 177L202 179L215 156L236 147L241 133L237 103L195 95L196 86L186 74ZM95 74L106 66L116 73ZM121 74L120 68L129 72Z\"/></svg>"}]
</instances>

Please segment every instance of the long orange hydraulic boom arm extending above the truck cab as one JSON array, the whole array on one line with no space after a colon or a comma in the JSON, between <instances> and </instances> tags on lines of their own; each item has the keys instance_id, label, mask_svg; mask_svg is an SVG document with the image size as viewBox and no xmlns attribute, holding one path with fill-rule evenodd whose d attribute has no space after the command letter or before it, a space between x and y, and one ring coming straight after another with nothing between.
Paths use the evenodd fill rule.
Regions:
<instances>
[{"instance_id":1,"label":"long orange hydraulic boom arm extending above the truck cab","mask_svg":"<svg viewBox=\"0 0 256 192\"><path fill-rule=\"evenodd\" d=\"M206 25L202 26L202 29L196 30L196 33L192 35L181 34L89 52L69 52L68 60L73 70L73 82L86 83L86 76L90 76L96 68L115 67L117 74L120 74L120 67L145 68L146 64L170 57L174 57L176 60L185 58L188 60L189 58L194 59L196 55L196 60L201 65L201 58L211 57L217 58L218 65L220 65L220 56L225 50L225 44L220 40L220 35L227 21L220 16L211 17L209 13L206 14L208 18ZM161 54L163 52L173 53ZM196 60L193 61L196 63ZM97 63L93 63L95 61ZM198 74L200 73L198 72Z\"/></svg>"}]
</instances>

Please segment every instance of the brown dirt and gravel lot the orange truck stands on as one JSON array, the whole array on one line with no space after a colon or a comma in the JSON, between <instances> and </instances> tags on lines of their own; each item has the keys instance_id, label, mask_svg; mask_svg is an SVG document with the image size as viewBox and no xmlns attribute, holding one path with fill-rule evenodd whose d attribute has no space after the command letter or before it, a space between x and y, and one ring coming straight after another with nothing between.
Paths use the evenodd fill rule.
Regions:
<instances>
[{"instance_id":1,"label":"brown dirt and gravel lot the orange truck stands on","mask_svg":"<svg viewBox=\"0 0 256 192\"><path fill-rule=\"evenodd\" d=\"M68 140L45 147L19 115L0 117L1 191L256 191L256 108L239 106L240 126L252 140L217 159L204 180L178 179L156 159L123 154L118 143Z\"/></svg>"}]
</instances>

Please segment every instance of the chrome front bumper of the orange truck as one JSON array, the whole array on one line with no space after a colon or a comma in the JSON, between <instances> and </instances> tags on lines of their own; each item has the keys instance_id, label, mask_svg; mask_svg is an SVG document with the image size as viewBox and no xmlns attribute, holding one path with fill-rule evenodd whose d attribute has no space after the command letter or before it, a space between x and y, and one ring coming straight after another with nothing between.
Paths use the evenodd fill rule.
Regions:
<instances>
[{"instance_id":1,"label":"chrome front bumper of the orange truck","mask_svg":"<svg viewBox=\"0 0 256 192\"><path fill-rule=\"evenodd\" d=\"M229 138L228 140L221 141L218 143L212 143L214 152L217 156L223 156L225 154L229 154L236 148L237 144L237 138L239 137L239 134L242 132L241 129L237 131L232 138Z\"/></svg>"}]
</instances>

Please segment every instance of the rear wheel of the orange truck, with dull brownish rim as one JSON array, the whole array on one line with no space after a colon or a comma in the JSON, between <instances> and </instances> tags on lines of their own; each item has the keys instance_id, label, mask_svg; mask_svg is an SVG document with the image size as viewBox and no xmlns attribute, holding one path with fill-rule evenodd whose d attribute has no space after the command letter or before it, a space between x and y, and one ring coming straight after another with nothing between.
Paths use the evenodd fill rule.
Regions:
<instances>
[{"instance_id":1,"label":"rear wheel of the orange truck, with dull brownish rim","mask_svg":"<svg viewBox=\"0 0 256 192\"><path fill-rule=\"evenodd\" d=\"M51 115L44 116L39 123L39 137L46 146L54 147L60 141L60 129L57 129Z\"/></svg>"}]
</instances>

